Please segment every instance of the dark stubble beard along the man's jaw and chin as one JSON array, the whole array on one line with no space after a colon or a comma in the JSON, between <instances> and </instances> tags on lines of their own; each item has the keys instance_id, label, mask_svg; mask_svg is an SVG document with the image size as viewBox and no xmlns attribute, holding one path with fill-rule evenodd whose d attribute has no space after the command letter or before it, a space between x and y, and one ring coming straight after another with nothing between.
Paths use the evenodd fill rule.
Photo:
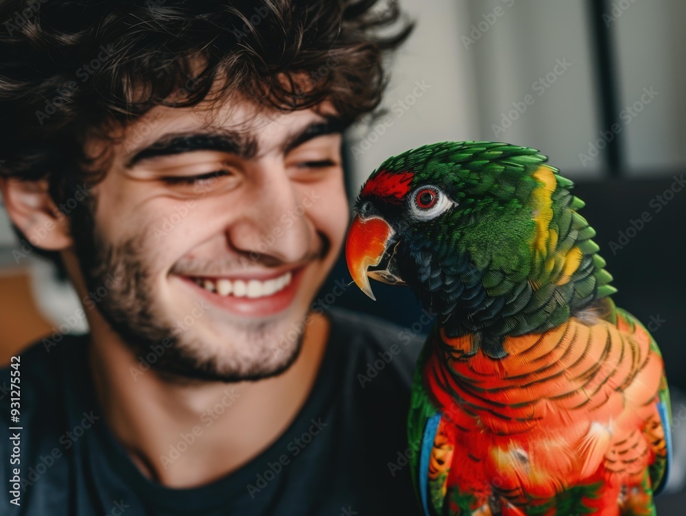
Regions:
<instances>
[{"instance_id":1,"label":"dark stubble beard along the man's jaw and chin","mask_svg":"<svg viewBox=\"0 0 686 516\"><path fill-rule=\"evenodd\" d=\"M118 245L109 243L95 225L93 203L80 211L71 217L71 232L86 288L106 289L95 308L133 353L141 371L150 367L175 384L241 382L277 376L298 358L307 313L285 328L279 328L285 325L280 320L235 323L226 344L213 349L194 336L193 325L200 318L190 324L171 322L159 310L151 294L152 275L143 260L152 256L153 249L146 247L150 238L143 234Z\"/></svg>"}]
</instances>

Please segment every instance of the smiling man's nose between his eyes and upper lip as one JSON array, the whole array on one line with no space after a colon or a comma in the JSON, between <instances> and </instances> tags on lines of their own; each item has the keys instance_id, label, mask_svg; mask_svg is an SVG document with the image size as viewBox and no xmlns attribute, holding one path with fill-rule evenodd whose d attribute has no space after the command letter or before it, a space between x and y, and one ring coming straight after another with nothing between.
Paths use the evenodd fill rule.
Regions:
<instances>
[{"instance_id":1,"label":"smiling man's nose between his eyes and upper lip","mask_svg":"<svg viewBox=\"0 0 686 516\"><path fill-rule=\"evenodd\" d=\"M228 243L255 262L292 263L310 251L313 230L297 184L283 166L256 174L246 185L250 201L227 229Z\"/></svg>"}]
</instances>

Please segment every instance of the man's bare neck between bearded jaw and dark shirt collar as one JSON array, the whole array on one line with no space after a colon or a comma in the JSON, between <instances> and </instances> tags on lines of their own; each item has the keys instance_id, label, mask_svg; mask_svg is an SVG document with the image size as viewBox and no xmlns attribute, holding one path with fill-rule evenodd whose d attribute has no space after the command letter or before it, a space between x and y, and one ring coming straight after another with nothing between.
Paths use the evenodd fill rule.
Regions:
<instances>
[{"instance_id":1,"label":"man's bare neck between bearded jaw and dark shirt collar","mask_svg":"<svg viewBox=\"0 0 686 516\"><path fill-rule=\"evenodd\" d=\"M93 334L95 391L110 430L143 474L167 487L229 474L274 442L305 404L329 339L329 321L310 317L287 371L233 384L170 384L152 370L132 381L136 358L113 335Z\"/></svg>"}]
</instances>

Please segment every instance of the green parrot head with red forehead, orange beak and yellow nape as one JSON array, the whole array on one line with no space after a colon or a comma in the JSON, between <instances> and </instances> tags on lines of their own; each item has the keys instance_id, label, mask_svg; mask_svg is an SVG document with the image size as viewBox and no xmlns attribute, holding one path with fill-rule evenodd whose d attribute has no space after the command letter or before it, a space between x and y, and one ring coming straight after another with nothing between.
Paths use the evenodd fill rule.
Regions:
<instances>
[{"instance_id":1,"label":"green parrot head with red forehead, orange beak and yellow nape","mask_svg":"<svg viewBox=\"0 0 686 516\"><path fill-rule=\"evenodd\" d=\"M576 213L584 204L546 160L536 149L490 142L436 143L389 158L355 204L346 240L355 284L372 299L370 278L405 284L433 312L457 313L472 329L500 321L503 332L514 330L506 315L532 302L569 317L611 294L595 232Z\"/></svg>"}]
</instances>

